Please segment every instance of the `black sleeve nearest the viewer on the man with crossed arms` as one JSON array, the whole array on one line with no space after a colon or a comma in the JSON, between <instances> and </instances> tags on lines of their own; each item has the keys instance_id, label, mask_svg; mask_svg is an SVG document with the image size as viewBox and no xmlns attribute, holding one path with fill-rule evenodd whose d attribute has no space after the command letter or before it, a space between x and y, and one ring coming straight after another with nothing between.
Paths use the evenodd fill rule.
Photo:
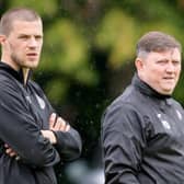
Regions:
<instances>
[{"instance_id":1,"label":"black sleeve nearest the viewer on the man with crossed arms","mask_svg":"<svg viewBox=\"0 0 184 184\"><path fill-rule=\"evenodd\" d=\"M59 162L57 150L42 136L20 89L10 83L1 83L0 89L0 139L21 157L23 163L33 168Z\"/></svg>"}]
</instances>

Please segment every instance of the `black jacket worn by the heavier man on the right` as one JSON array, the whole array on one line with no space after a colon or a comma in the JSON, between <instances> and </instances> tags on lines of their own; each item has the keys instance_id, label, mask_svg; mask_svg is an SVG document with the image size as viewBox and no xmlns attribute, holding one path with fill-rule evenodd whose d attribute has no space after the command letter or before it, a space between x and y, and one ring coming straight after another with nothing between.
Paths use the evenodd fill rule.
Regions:
<instances>
[{"instance_id":1,"label":"black jacket worn by the heavier man on the right","mask_svg":"<svg viewBox=\"0 0 184 184\"><path fill-rule=\"evenodd\" d=\"M184 184L184 112L137 74L102 118L106 184Z\"/></svg>"}]
</instances>

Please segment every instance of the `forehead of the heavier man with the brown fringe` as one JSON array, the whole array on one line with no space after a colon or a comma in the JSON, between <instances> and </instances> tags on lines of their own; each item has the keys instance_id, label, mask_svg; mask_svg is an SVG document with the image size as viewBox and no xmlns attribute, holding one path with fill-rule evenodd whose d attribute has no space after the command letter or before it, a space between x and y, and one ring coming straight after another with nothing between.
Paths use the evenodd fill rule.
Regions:
<instances>
[{"instance_id":1,"label":"forehead of the heavier man with the brown fringe","mask_svg":"<svg viewBox=\"0 0 184 184\"><path fill-rule=\"evenodd\" d=\"M174 60L181 60L181 51L179 48L171 48L163 51L151 51L148 55L148 59L174 59Z\"/></svg>"}]
</instances>

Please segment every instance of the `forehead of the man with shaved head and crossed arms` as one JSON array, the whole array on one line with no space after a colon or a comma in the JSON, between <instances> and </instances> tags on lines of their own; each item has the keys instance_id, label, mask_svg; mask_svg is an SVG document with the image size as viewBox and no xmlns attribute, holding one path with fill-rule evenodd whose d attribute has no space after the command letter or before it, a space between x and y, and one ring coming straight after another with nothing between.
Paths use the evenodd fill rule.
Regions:
<instances>
[{"instance_id":1,"label":"forehead of the man with shaved head and crossed arms","mask_svg":"<svg viewBox=\"0 0 184 184\"><path fill-rule=\"evenodd\" d=\"M13 21L12 32L16 34L43 34L43 24L41 20L36 21Z\"/></svg>"}]
</instances>

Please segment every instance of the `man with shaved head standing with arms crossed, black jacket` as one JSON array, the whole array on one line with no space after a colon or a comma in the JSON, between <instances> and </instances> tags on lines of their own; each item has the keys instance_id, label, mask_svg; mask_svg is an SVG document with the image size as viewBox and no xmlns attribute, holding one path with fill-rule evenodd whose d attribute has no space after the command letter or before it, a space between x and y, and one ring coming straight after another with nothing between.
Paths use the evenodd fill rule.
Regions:
<instances>
[{"instance_id":1,"label":"man with shaved head standing with arms crossed, black jacket","mask_svg":"<svg viewBox=\"0 0 184 184\"><path fill-rule=\"evenodd\" d=\"M41 16L7 11L0 44L0 184L56 184L54 165L77 159L81 139L31 80L43 46Z\"/></svg>"}]
</instances>

